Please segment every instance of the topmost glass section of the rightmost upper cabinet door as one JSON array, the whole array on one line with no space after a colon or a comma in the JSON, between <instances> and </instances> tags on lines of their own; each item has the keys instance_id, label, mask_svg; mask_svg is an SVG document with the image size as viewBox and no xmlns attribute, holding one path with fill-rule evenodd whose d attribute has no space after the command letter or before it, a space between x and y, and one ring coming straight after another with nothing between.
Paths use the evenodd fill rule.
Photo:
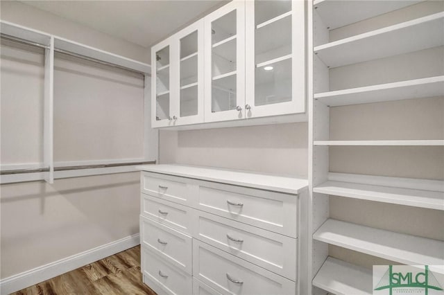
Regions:
<instances>
[{"instance_id":1,"label":"topmost glass section of the rightmost upper cabinet door","mask_svg":"<svg viewBox=\"0 0 444 295\"><path fill-rule=\"evenodd\" d=\"M255 2L255 25L291 11L290 0L259 0Z\"/></svg>"}]
</instances>

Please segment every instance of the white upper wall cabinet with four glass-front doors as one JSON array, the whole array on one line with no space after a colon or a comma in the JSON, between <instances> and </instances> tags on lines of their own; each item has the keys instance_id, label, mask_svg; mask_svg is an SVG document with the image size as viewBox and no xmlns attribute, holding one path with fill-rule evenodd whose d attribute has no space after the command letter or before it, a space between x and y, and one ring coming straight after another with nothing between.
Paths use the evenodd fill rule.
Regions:
<instances>
[{"instance_id":1,"label":"white upper wall cabinet with four glass-front doors","mask_svg":"<svg viewBox=\"0 0 444 295\"><path fill-rule=\"evenodd\" d=\"M151 56L153 127L306 120L305 1L233 0Z\"/></svg>"}]
</instances>

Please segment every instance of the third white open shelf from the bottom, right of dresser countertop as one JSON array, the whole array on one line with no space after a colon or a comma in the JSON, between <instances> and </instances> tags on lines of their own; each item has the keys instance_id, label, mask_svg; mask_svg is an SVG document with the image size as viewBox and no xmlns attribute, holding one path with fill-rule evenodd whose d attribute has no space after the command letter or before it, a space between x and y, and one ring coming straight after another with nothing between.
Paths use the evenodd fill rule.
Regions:
<instances>
[{"instance_id":1,"label":"third white open shelf from the bottom, right of dresser countertop","mask_svg":"<svg viewBox=\"0 0 444 295\"><path fill-rule=\"evenodd\" d=\"M384 181L387 184L391 183L390 179L392 177L381 178L387 179ZM409 179L405 179L405 181L409 181ZM420 179L412 179L413 181L420 181ZM443 181L436 182L441 183L442 188L444 188ZM316 186L313 188L313 191L314 193L350 197L353 199L366 199L375 202L444 210L444 191L357 184L332 180Z\"/></svg>"}]
</instances>

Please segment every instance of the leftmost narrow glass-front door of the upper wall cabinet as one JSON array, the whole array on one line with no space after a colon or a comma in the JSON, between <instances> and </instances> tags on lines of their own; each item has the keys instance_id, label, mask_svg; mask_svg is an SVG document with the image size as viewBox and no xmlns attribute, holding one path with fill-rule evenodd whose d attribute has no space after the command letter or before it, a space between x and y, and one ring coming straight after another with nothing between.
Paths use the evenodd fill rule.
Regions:
<instances>
[{"instance_id":1,"label":"leftmost narrow glass-front door of the upper wall cabinet","mask_svg":"<svg viewBox=\"0 0 444 295\"><path fill-rule=\"evenodd\" d=\"M167 39L151 49L151 125L171 126L171 46Z\"/></svg>"}]
</instances>

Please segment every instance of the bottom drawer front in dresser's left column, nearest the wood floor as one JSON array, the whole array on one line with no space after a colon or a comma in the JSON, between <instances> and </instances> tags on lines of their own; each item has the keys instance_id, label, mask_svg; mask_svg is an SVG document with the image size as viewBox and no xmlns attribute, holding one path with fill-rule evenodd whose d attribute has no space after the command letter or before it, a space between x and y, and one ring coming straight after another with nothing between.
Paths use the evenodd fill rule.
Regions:
<instances>
[{"instance_id":1,"label":"bottom drawer front in dresser's left column, nearest the wood floor","mask_svg":"<svg viewBox=\"0 0 444 295\"><path fill-rule=\"evenodd\" d=\"M192 294L191 276L170 265L145 247L142 249L142 274L159 285L167 294Z\"/></svg>"}]
</instances>

